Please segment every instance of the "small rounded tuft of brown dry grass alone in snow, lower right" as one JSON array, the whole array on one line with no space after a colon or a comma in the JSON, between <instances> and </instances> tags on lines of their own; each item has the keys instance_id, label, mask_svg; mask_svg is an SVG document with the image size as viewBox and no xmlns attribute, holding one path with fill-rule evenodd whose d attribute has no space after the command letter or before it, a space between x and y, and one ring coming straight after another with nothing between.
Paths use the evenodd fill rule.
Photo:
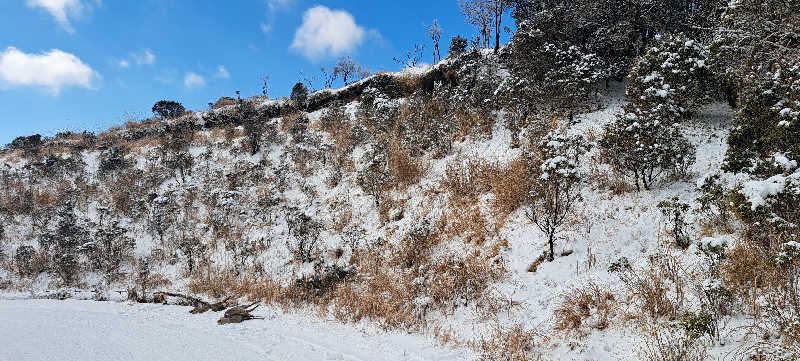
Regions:
<instances>
[{"instance_id":1,"label":"small rounded tuft of brown dry grass alone in snow, lower right","mask_svg":"<svg viewBox=\"0 0 800 361\"><path fill-rule=\"evenodd\" d=\"M604 287L590 282L561 294L561 304L555 310L555 329L585 335L585 327L604 330L615 316L617 302Z\"/></svg>"}]
</instances>

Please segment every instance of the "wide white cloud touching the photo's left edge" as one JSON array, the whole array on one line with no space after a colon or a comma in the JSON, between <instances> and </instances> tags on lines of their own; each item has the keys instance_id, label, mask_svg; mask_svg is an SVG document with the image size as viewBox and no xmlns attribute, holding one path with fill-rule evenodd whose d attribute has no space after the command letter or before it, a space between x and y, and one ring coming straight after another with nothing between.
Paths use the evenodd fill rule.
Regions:
<instances>
[{"instance_id":1,"label":"wide white cloud touching the photo's left edge","mask_svg":"<svg viewBox=\"0 0 800 361\"><path fill-rule=\"evenodd\" d=\"M36 86L58 95L68 86L91 89L98 77L97 72L78 57L57 49L26 54L9 47L0 53L0 87Z\"/></svg>"}]
</instances>

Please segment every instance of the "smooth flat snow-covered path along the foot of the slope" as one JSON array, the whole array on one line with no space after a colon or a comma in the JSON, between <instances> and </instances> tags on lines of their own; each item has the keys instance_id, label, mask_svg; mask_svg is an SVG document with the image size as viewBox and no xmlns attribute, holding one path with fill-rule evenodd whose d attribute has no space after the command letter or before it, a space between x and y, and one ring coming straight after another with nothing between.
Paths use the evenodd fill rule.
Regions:
<instances>
[{"instance_id":1,"label":"smooth flat snow-covered path along the foot of the slope","mask_svg":"<svg viewBox=\"0 0 800 361\"><path fill-rule=\"evenodd\" d=\"M0 361L26 360L467 360L417 335L367 335L352 326L267 311L218 326L189 308L0 300Z\"/></svg>"}]
</instances>

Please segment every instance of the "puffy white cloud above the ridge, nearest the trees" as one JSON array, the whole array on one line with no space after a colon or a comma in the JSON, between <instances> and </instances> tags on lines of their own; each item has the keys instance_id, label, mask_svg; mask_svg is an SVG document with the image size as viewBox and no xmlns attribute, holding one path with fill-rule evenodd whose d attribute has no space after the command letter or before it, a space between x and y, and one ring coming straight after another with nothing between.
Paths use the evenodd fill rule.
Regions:
<instances>
[{"instance_id":1,"label":"puffy white cloud above the ridge, nearest the trees","mask_svg":"<svg viewBox=\"0 0 800 361\"><path fill-rule=\"evenodd\" d=\"M364 42L366 34L350 13L316 6L303 15L303 24L295 32L291 48L318 60L352 52Z\"/></svg>"}]
</instances>

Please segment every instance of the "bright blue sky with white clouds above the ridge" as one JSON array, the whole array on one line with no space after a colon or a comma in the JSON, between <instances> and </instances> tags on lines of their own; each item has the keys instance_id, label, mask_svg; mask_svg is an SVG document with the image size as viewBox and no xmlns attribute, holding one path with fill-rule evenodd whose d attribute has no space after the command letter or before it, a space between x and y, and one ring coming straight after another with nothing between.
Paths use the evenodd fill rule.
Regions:
<instances>
[{"instance_id":1,"label":"bright blue sky with white clouds above the ridge","mask_svg":"<svg viewBox=\"0 0 800 361\"><path fill-rule=\"evenodd\" d=\"M160 99L259 94L267 74L270 95L288 95L341 55L397 70L393 57L425 43L430 62L434 18L443 54L476 35L457 0L0 0L0 13L0 144L142 119Z\"/></svg>"}]
</instances>

